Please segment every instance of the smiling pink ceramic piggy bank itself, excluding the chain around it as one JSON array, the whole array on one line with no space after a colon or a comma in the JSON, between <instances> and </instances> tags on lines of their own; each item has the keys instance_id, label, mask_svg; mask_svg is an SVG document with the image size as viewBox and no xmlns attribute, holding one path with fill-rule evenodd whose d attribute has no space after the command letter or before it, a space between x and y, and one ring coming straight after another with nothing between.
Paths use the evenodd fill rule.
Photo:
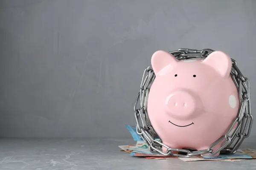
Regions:
<instances>
[{"instance_id":1,"label":"smiling pink ceramic piggy bank itself, excluding the chain around it","mask_svg":"<svg viewBox=\"0 0 256 170\"><path fill-rule=\"evenodd\" d=\"M166 51L157 51L151 66L156 77L149 91L147 111L164 144L204 150L225 135L240 105L227 54L214 51L206 59L178 60ZM215 145L213 152L223 144ZM166 152L165 147L163 151ZM214 156L218 155L219 152Z\"/></svg>"}]
</instances>

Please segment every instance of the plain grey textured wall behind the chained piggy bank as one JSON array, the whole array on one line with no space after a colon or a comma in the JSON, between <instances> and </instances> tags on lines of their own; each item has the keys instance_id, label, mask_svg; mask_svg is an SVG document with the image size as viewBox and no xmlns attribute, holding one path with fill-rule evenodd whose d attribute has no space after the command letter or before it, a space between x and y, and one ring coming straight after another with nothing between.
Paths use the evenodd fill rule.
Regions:
<instances>
[{"instance_id":1,"label":"plain grey textured wall behind the chained piggy bank","mask_svg":"<svg viewBox=\"0 0 256 170\"><path fill-rule=\"evenodd\" d=\"M178 48L236 59L255 115L255 0L2 0L0 136L128 137L151 55Z\"/></svg>"}]
</instances>

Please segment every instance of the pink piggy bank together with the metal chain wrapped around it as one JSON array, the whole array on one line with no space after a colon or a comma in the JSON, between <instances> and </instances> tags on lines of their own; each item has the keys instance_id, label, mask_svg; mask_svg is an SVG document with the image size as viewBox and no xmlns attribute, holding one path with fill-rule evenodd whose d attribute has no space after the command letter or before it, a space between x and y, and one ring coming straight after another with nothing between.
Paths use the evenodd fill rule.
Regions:
<instances>
[{"instance_id":1,"label":"pink piggy bank together with the metal chain wrapped around it","mask_svg":"<svg viewBox=\"0 0 256 170\"><path fill-rule=\"evenodd\" d=\"M233 154L253 123L249 79L228 54L211 49L156 51L134 111L137 133L165 156Z\"/></svg>"}]
</instances>

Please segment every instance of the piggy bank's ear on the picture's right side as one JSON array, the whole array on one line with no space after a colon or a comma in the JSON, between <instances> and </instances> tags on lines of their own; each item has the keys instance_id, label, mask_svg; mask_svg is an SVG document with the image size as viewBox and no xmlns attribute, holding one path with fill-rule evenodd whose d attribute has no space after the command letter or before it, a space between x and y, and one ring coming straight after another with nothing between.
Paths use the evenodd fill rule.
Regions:
<instances>
[{"instance_id":1,"label":"piggy bank's ear on the picture's right side","mask_svg":"<svg viewBox=\"0 0 256 170\"><path fill-rule=\"evenodd\" d=\"M230 75L232 61L230 56L222 51L212 52L204 59L203 63L218 71L221 77L228 77Z\"/></svg>"}]
</instances>

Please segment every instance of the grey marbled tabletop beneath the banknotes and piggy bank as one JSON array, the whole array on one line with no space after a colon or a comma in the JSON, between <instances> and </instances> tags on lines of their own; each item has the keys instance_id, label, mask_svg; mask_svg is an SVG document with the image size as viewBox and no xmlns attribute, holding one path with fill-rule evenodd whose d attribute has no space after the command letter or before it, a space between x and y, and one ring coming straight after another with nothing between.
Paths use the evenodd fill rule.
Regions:
<instances>
[{"instance_id":1,"label":"grey marbled tabletop beneath the banknotes and piggy bank","mask_svg":"<svg viewBox=\"0 0 256 170\"><path fill-rule=\"evenodd\" d=\"M121 152L131 139L0 139L0 170L249 170L256 159L194 161L144 159ZM256 136L240 147L256 149Z\"/></svg>"}]
</instances>

